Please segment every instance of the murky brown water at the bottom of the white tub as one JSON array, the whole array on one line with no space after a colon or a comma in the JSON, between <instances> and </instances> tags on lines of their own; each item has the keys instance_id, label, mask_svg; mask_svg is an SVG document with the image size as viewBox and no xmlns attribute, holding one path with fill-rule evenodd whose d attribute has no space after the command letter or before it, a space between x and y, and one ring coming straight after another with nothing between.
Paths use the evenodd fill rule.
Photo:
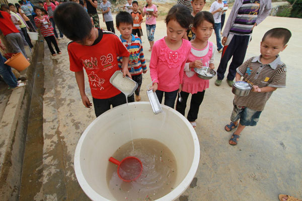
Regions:
<instances>
[{"instance_id":1,"label":"murky brown water at the bottom of the white tub","mask_svg":"<svg viewBox=\"0 0 302 201\"><path fill-rule=\"evenodd\" d=\"M171 150L153 139L134 139L135 150L129 141L116 150L112 157L121 160L127 156L137 157L142 162L142 173L135 181L122 181L117 175L117 166L108 163L107 184L117 200L155 200L174 188L177 163Z\"/></svg>"}]
</instances>

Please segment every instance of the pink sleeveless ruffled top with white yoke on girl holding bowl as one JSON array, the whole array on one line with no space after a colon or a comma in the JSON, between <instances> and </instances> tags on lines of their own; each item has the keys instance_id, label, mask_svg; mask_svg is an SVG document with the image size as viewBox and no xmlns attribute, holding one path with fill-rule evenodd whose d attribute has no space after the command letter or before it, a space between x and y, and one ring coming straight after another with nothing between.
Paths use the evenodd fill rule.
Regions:
<instances>
[{"instance_id":1,"label":"pink sleeveless ruffled top with white yoke on girl holding bowl","mask_svg":"<svg viewBox=\"0 0 302 201\"><path fill-rule=\"evenodd\" d=\"M201 60L203 66L209 67L210 63L214 62L214 52L215 46L212 42L207 43L206 47L202 50L191 48L190 54L188 56L188 63L185 65L185 73L182 84L182 91L188 93L197 93L198 91L203 91L209 87L208 79L201 79L198 77L194 71L194 68L189 68L189 63L195 60Z\"/></svg>"}]
</instances>

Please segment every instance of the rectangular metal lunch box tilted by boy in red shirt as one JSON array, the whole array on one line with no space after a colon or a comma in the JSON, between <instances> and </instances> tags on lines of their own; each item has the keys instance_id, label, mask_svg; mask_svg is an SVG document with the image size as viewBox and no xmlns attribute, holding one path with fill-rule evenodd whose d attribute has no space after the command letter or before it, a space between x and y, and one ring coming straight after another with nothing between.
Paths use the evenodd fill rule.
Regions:
<instances>
[{"instance_id":1,"label":"rectangular metal lunch box tilted by boy in red shirt","mask_svg":"<svg viewBox=\"0 0 302 201\"><path fill-rule=\"evenodd\" d=\"M133 81L127 76L123 77L123 73L119 70L113 73L109 82L127 96L132 95L138 86L136 81Z\"/></svg>"}]
</instances>

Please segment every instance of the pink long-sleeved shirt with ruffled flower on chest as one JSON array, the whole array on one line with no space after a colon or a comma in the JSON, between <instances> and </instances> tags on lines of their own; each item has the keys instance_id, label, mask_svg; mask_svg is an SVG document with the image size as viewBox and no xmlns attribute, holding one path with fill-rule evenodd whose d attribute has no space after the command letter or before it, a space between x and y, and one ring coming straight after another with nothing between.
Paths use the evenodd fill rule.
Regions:
<instances>
[{"instance_id":1,"label":"pink long-sleeved shirt with ruffled flower on chest","mask_svg":"<svg viewBox=\"0 0 302 201\"><path fill-rule=\"evenodd\" d=\"M154 43L149 68L151 79L158 83L158 90L171 92L179 88L190 50L191 43L185 39L175 51L167 46L165 37Z\"/></svg>"}]
</instances>

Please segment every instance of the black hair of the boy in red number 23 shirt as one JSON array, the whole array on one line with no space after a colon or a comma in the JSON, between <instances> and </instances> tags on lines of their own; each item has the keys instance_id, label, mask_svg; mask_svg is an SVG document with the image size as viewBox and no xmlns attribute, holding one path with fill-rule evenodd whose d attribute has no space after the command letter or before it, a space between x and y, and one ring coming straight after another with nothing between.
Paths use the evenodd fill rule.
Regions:
<instances>
[{"instance_id":1,"label":"black hair of the boy in red number 23 shirt","mask_svg":"<svg viewBox=\"0 0 302 201\"><path fill-rule=\"evenodd\" d=\"M90 37L93 29L91 19L85 9L77 3L66 2L59 5L53 14L58 29L70 40L81 41Z\"/></svg>"}]
</instances>

